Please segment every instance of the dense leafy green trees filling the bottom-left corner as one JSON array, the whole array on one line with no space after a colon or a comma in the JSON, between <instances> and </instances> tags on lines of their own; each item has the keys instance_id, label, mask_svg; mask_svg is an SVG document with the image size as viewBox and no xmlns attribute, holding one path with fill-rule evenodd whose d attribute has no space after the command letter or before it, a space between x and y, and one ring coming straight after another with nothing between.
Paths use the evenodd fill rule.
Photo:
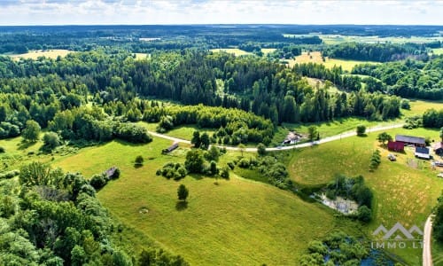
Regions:
<instances>
[{"instance_id":1,"label":"dense leafy green trees filling the bottom-left corner","mask_svg":"<svg viewBox=\"0 0 443 266\"><path fill-rule=\"evenodd\" d=\"M127 254L113 239L115 223L80 174L41 162L20 168L18 181L0 183L1 262L8 265L188 265L180 256L146 246ZM148 258L146 258L148 257Z\"/></svg>"}]
</instances>

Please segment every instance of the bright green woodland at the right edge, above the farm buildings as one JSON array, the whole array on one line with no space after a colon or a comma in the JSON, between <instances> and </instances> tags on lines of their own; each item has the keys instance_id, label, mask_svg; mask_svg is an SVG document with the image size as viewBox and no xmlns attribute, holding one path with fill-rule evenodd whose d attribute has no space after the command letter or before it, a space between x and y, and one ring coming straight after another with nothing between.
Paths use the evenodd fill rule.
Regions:
<instances>
[{"instance_id":1,"label":"bright green woodland at the right edge, above the farm buildings","mask_svg":"<svg viewBox=\"0 0 443 266\"><path fill-rule=\"evenodd\" d=\"M427 62L407 59L380 65L354 66L353 74L365 74L385 84L387 91L402 98L443 99L443 56Z\"/></svg>"}]
</instances>

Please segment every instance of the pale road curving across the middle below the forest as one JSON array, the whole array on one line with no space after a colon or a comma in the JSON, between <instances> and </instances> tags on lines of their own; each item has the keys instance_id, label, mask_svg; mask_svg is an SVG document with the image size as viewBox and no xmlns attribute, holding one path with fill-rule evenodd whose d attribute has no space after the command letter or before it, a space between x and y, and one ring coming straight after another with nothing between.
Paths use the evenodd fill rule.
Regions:
<instances>
[{"instance_id":1,"label":"pale road curving across the middle below the forest","mask_svg":"<svg viewBox=\"0 0 443 266\"><path fill-rule=\"evenodd\" d=\"M370 132L383 131L383 130L387 130L387 129L397 129L397 128L401 128L402 126L403 126L403 124L393 124L393 125L389 125L389 126L377 126L377 127L369 128L367 132L370 133ZM159 134L156 132L152 132L152 131L148 131L148 133L151 134L152 136L155 136L155 137L161 137L161 138L166 138L166 139L176 141L179 143L190 144L189 140L185 140L183 138L169 137L169 136ZM305 148L305 147L309 147L312 145L320 145L320 144L327 143L330 141L342 139L345 137L353 137L355 135L357 135L357 133L355 131L349 131L349 132L344 132L339 135L335 135L335 136L331 136L331 137L324 137L323 139L320 139L319 141L315 141L313 143L308 142L308 143L299 144L299 145L289 145L289 146L281 146L281 147L276 147L276 148L266 148L266 150L268 152L271 152L271 151L284 151L284 150L291 150L291 149L297 149L297 148ZM240 151L240 148L238 148L238 147L229 147L229 146L221 146L221 145L217 145L217 147L224 147L229 151ZM257 152L257 148L245 148L244 151L245 152Z\"/></svg>"}]
</instances>

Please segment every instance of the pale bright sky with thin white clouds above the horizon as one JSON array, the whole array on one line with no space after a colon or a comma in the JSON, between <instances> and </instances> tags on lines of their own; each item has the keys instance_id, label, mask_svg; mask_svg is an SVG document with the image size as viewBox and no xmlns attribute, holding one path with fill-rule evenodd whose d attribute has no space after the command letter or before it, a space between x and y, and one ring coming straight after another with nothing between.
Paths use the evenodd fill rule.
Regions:
<instances>
[{"instance_id":1,"label":"pale bright sky with thin white clouds above the horizon","mask_svg":"<svg viewBox=\"0 0 443 266\"><path fill-rule=\"evenodd\" d=\"M443 0L0 0L0 25L443 25Z\"/></svg>"}]
</instances>

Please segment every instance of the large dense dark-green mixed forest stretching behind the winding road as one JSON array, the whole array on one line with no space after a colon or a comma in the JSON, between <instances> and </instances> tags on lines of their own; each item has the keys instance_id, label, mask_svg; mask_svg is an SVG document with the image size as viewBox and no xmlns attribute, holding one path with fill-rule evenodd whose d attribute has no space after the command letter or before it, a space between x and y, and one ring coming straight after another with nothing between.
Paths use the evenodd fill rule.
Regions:
<instances>
[{"instance_id":1,"label":"large dense dark-green mixed forest stretching behind the winding road","mask_svg":"<svg viewBox=\"0 0 443 266\"><path fill-rule=\"evenodd\" d=\"M316 90L302 75L325 78L355 92ZM22 129L25 121L33 119L46 128L56 113L91 102L103 105L105 113L125 114L128 121L138 121L145 106L136 104L137 97L237 108L274 124L349 115L383 120L400 114L398 98L371 95L358 84L352 77L342 77L337 67L331 71L320 65L289 69L268 59L235 58L223 52L159 52L144 60L122 51L78 52L64 59L2 58L0 122Z\"/></svg>"}]
</instances>

